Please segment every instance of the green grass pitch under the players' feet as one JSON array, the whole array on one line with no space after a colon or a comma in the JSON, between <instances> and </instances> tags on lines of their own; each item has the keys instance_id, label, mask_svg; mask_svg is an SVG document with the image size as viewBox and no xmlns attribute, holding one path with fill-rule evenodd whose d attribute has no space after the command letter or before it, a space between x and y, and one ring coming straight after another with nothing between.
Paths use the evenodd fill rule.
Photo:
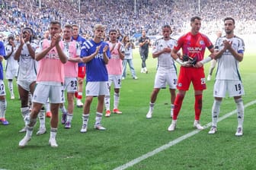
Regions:
<instances>
[{"instance_id":1,"label":"green grass pitch under the players' feet","mask_svg":"<svg viewBox=\"0 0 256 170\"><path fill-rule=\"evenodd\" d=\"M110 118L103 118L102 124L107 131L94 130L97 103L97 99L94 98L88 133L81 134L79 131L82 126L82 109L75 107L72 128L66 130L62 124L59 124L57 148L48 145L49 118L46 118L46 134L36 135L39 125L37 122L34 135L28 145L24 149L18 148L19 140L24 137L24 134L19 134L18 131L23 127L24 121L21 119L20 101L10 99L6 86L8 99L6 118L10 121L10 125L0 124L0 169L114 169L194 131L193 90L188 91L184 99L176 131L172 133L167 131L171 123L170 94L167 89L161 90L158 94L153 118L146 119L157 60L150 54L147 61L149 74L140 73L141 60L136 49L133 63L139 79L133 80L129 74L122 82L119 109L123 114L112 114ZM210 63L204 66L206 75L209 66ZM130 73L129 70L127 71ZM243 99L247 104L254 101L256 96L255 52L252 50L245 52L245 58L240 63L240 71L245 87ZM214 80L207 81L207 90L203 93L201 115L203 125L211 121L213 83ZM14 90L17 98L18 90L15 83ZM234 100L226 97L222 102L220 116L233 110L235 110ZM232 115L218 123L217 134L207 134L209 131L207 128L127 169L256 169L255 110L256 105L245 108L242 137L235 137L237 118Z\"/></svg>"}]
</instances>

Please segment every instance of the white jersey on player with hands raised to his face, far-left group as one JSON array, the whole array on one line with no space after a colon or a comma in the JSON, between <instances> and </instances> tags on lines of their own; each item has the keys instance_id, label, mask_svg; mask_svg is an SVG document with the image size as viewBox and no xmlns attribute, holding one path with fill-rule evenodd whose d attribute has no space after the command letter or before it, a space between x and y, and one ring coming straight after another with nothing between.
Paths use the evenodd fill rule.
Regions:
<instances>
[{"instance_id":1,"label":"white jersey on player with hands raised to his face, far-left group","mask_svg":"<svg viewBox=\"0 0 256 170\"><path fill-rule=\"evenodd\" d=\"M34 51L37 48L35 43L30 43ZM19 71L18 80L35 81L37 80L37 61L31 58L27 49L27 44L24 44L21 50L21 56L19 58Z\"/></svg>"}]
</instances>

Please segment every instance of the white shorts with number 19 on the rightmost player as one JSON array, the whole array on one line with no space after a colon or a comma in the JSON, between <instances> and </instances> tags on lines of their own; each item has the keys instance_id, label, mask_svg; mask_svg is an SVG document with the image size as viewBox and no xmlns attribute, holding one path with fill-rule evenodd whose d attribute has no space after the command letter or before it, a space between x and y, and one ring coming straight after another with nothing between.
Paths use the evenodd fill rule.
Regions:
<instances>
[{"instance_id":1,"label":"white shorts with number 19 on the rightmost player","mask_svg":"<svg viewBox=\"0 0 256 170\"><path fill-rule=\"evenodd\" d=\"M213 96L224 98L226 93L229 93L229 97L245 95L241 80L216 80Z\"/></svg>"}]
</instances>

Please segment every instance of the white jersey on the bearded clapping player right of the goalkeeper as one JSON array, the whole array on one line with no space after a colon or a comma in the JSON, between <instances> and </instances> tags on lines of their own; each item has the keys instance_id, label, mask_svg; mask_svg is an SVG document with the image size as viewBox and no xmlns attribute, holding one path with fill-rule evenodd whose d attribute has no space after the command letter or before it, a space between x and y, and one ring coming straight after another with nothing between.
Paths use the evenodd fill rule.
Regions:
<instances>
[{"instance_id":1,"label":"white jersey on the bearded clapping player right of the goalkeeper","mask_svg":"<svg viewBox=\"0 0 256 170\"><path fill-rule=\"evenodd\" d=\"M215 46L215 50L217 52L224 49L223 40L225 39L225 36L217 39ZM245 43L243 39L239 38L238 36L234 36L232 39L227 40L232 41L232 49L235 49L236 52L242 54L245 52ZM216 71L216 80L241 80L238 70L239 61L235 59L229 50L226 50L226 52L224 52L222 56L217 59L217 61L218 66Z\"/></svg>"}]
</instances>

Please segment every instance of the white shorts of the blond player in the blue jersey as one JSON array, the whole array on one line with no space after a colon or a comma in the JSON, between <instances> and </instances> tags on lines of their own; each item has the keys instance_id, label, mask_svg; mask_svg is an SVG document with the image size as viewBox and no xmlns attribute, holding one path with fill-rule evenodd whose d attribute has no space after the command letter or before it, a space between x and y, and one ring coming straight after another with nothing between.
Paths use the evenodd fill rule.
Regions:
<instances>
[{"instance_id":1,"label":"white shorts of the blond player in the blue jersey","mask_svg":"<svg viewBox=\"0 0 256 170\"><path fill-rule=\"evenodd\" d=\"M85 96L106 96L107 94L107 81L89 81L86 84Z\"/></svg>"}]
</instances>

